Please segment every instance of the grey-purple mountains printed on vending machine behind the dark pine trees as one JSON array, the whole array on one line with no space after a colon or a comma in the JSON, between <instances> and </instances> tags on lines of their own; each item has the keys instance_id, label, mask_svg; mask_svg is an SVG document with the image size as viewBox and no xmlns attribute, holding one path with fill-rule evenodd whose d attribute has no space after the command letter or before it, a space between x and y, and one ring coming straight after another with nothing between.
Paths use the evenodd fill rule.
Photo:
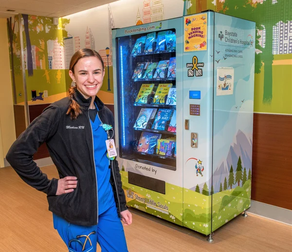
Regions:
<instances>
[{"instance_id":1,"label":"grey-purple mountains printed on vending machine behind the dark pine trees","mask_svg":"<svg viewBox=\"0 0 292 252\"><path fill-rule=\"evenodd\" d=\"M227 158L225 159L225 161L222 161L222 163L216 169L213 169L214 193L217 193L220 191L220 185L221 186L224 185L225 178L226 178L226 181L228 182L228 187L230 188L230 184L232 184L229 178L231 166L233 167L233 173L234 173L234 179L233 179L234 183L231 185L231 187L233 188L236 187L235 177L236 177L237 163L238 163L239 157L241 161L242 172L244 168L246 168L246 173L248 173L252 167L252 140L250 137L246 136L246 134L244 134L240 130L238 130L235 136L234 143L230 146L230 149L228 151ZM206 182L207 185L211 185L211 179L208 182ZM199 187L203 188L203 184L200 184ZM190 189L193 191L196 191L196 186Z\"/></svg>"}]
</instances>

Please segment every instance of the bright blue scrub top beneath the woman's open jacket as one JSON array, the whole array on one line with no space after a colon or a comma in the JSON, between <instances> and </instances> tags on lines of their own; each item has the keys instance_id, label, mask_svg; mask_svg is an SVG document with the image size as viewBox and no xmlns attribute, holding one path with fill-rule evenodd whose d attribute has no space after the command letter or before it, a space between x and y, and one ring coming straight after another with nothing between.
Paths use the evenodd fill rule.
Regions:
<instances>
[{"instance_id":1,"label":"bright blue scrub top beneath the woman's open jacket","mask_svg":"<svg viewBox=\"0 0 292 252\"><path fill-rule=\"evenodd\" d=\"M94 146L94 162L97 177L98 192L98 215L107 211L114 202L113 191L110 185L110 168L109 159L107 157L106 140L108 139L106 131L102 128L101 121L98 116L94 122L90 120L93 146Z\"/></svg>"}]
</instances>

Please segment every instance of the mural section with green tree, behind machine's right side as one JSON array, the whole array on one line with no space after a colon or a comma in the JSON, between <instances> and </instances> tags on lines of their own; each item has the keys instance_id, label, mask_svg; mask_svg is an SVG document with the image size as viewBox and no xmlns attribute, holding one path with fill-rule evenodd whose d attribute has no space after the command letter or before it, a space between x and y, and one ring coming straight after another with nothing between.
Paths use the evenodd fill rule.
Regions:
<instances>
[{"instance_id":1,"label":"mural section with green tree, behind machine's right side","mask_svg":"<svg viewBox=\"0 0 292 252\"><path fill-rule=\"evenodd\" d=\"M292 114L292 1L184 0L184 14L205 9L256 22L255 112Z\"/></svg>"}]
</instances>

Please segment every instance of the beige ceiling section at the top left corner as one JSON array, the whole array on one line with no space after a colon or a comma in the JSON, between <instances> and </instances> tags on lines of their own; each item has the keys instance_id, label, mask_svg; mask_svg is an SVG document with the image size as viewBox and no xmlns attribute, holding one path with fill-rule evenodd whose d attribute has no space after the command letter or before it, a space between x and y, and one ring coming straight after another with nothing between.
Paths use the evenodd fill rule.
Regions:
<instances>
[{"instance_id":1,"label":"beige ceiling section at the top left corner","mask_svg":"<svg viewBox=\"0 0 292 252\"><path fill-rule=\"evenodd\" d=\"M114 1L117 0L0 0L0 18L17 14L64 17Z\"/></svg>"}]
</instances>

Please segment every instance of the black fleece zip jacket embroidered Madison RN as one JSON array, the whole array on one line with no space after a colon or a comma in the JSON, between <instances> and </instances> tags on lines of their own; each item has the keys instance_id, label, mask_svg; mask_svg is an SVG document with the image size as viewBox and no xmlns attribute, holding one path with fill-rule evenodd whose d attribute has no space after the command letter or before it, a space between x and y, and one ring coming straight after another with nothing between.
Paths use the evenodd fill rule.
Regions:
<instances>
[{"instance_id":1,"label":"black fleece zip jacket embroidered Madison RN","mask_svg":"<svg viewBox=\"0 0 292 252\"><path fill-rule=\"evenodd\" d=\"M73 99L82 108L82 114L76 120L66 115L71 104L68 97L52 103L19 135L6 159L24 182L47 194L50 211L70 223L91 226L98 222L97 182L89 118L91 97L85 99L76 90ZM95 103L101 122L114 126L111 111L98 97L95 98ZM110 137L114 138L112 134L110 131ZM33 161L33 155L44 142L59 177L77 177L77 187L73 192L56 196L58 180L49 180ZM118 215L121 217L120 213L127 210L127 206L118 162L110 161L109 168L110 184Z\"/></svg>"}]
</instances>

